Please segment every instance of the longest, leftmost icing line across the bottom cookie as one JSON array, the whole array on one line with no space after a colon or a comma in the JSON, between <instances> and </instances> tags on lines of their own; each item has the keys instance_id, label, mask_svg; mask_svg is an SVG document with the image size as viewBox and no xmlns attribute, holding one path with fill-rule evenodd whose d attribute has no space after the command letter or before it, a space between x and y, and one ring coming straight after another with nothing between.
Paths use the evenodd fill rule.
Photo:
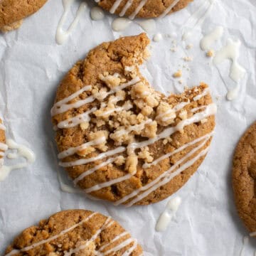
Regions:
<instances>
[{"instance_id":1,"label":"longest, leftmost icing line across the bottom cookie","mask_svg":"<svg viewBox=\"0 0 256 256\"><path fill-rule=\"evenodd\" d=\"M33 248L36 248L40 245L44 245L46 242L50 242L50 241L53 241L57 238L59 238L60 236L62 235L65 235L65 233L68 233L70 232L71 230L77 228L78 226L82 225L83 223L87 222L88 220L90 220L90 218L92 218L94 215L96 215L98 213L92 213L90 214L89 216L87 216L87 218L85 218L84 220L81 220L79 223L75 224L75 225L72 225L70 228L67 228L65 230L62 230L58 235L53 235L52 237L46 239L46 240L41 240L40 242L36 242L34 243L33 245L29 245L27 247L24 247L23 249L21 250L11 250L11 252L7 253L6 256L11 256L11 255L15 255L19 252L27 252L28 250L31 250Z\"/></svg>"}]
</instances>

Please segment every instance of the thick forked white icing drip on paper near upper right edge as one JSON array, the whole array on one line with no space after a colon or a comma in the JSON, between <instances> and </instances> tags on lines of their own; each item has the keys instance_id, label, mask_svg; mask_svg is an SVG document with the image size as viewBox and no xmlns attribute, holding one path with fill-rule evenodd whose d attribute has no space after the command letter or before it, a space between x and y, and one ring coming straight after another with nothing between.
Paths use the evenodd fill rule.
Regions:
<instances>
[{"instance_id":1,"label":"thick forked white icing drip on paper near upper right edge","mask_svg":"<svg viewBox=\"0 0 256 256\"><path fill-rule=\"evenodd\" d=\"M229 38L226 46L221 48L213 58L215 65L222 63L224 60L232 61L229 75L235 82L238 82L245 76L245 69L238 63L240 45L241 42L239 40L233 41Z\"/></svg>"}]
</instances>

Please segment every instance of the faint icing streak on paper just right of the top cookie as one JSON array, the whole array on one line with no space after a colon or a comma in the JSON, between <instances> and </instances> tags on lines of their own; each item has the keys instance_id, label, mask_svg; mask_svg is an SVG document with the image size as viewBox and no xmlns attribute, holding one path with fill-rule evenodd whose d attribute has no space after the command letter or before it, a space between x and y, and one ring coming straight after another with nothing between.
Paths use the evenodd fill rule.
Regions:
<instances>
[{"instance_id":1,"label":"faint icing streak on paper just right of the top cookie","mask_svg":"<svg viewBox=\"0 0 256 256\"><path fill-rule=\"evenodd\" d=\"M203 1L203 4L199 7L199 9L195 11L183 24L183 28L185 28L182 29L183 32L181 38L183 41L186 41L192 35L191 31L193 31L193 29L201 26L213 8L214 3L215 0Z\"/></svg>"}]
</instances>

